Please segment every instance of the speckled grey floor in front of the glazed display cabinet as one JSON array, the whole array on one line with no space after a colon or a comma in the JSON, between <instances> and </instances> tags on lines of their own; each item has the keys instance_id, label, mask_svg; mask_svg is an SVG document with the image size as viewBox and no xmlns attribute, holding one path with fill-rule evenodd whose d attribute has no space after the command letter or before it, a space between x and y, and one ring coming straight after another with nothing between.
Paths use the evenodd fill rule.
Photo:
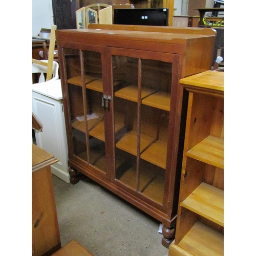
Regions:
<instances>
[{"instance_id":1,"label":"speckled grey floor in front of the glazed display cabinet","mask_svg":"<svg viewBox=\"0 0 256 256\"><path fill-rule=\"evenodd\" d=\"M168 254L159 221L88 178L75 185L52 180L62 246L75 239L95 256Z\"/></svg>"}]
</instances>

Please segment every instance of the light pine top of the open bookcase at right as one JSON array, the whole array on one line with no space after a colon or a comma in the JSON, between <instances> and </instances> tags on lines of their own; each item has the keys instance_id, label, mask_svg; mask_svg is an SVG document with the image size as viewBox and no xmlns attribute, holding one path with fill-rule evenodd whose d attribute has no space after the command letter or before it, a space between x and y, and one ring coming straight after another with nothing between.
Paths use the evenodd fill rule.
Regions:
<instances>
[{"instance_id":1,"label":"light pine top of the open bookcase at right","mask_svg":"<svg viewBox=\"0 0 256 256\"><path fill-rule=\"evenodd\" d=\"M185 88L202 88L224 92L224 72L205 71L180 79Z\"/></svg>"}]
</instances>

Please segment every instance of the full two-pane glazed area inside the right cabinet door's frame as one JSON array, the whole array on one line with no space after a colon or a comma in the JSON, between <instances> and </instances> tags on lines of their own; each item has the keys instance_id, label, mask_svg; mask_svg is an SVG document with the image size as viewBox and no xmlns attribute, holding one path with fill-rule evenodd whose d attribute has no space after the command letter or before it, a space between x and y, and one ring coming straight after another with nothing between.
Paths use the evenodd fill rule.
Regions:
<instances>
[{"instance_id":1,"label":"full two-pane glazed area inside the right cabinet door's frame","mask_svg":"<svg viewBox=\"0 0 256 256\"><path fill-rule=\"evenodd\" d=\"M116 179L162 204L172 63L113 56L113 79Z\"/></svg>"}]
</instances>

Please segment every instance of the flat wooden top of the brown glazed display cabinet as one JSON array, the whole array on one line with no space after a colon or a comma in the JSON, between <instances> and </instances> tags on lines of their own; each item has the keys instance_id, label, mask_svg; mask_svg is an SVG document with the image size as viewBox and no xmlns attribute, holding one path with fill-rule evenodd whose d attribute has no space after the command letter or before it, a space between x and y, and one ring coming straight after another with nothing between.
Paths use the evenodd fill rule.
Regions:
<instances>
[{"instance_id":1,"label":"flat wooden top of the brown glazed display cabinet","mask_svg":"<svg viewBox=\"0 0 256 256\"><path fill-rule=\"evenodd\" d=\"M114 25L113 29L67 29L67 30L56 30L56 39L62 40L62 36L68 36L66 39L74 39L74 37L79 36L80 39L83 36L93 36L93 37L107 37L108 39L130 39L130 40L140 40L140 41L159 41L159 42L171 42L172 44L184 44L188 39L215 36L215 30L211 29L176 29L170 27L160 27L152 28L150 26L139 26L137 30L130 30L132 27L125 27L123 30L116 29ZM151 31L148 31L150 27ZM155 26L156 27L156 26ZM133 26L134 28L134 26ZM126 30L125 30L126 29ZM136 28L135 28L136 29Z\"/></svg>"}]
</instances>

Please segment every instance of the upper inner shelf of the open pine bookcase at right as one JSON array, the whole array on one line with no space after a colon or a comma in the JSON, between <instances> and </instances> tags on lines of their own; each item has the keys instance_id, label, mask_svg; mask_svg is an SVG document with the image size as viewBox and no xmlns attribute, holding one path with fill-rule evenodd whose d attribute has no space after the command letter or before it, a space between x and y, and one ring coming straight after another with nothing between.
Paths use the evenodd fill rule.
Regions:
<instances>
[{"instance_id":1,"label":"upper inner shelf of the open pine bookcase at right","mask_svg":"<svg viewBox=\"0 0 256 256\"><path fill-rule=\"evenodd\" d=\"M224 169L224 140L208 136L191 148L186 156Z\"/></svg>"}]
</instances>

